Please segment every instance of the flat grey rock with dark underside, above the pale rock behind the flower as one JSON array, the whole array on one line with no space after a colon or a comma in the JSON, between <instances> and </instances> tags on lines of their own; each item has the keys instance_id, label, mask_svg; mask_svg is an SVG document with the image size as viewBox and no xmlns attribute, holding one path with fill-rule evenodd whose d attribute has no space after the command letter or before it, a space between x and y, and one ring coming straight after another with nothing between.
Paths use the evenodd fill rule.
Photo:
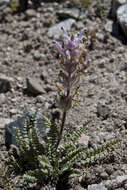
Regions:
<instances>
[{"instance_id":1,"label":"flat grey rock with dark underside, above the pale rock behind the flower","mask_svg":"<svg viewBox=\"0 0 127 190\"><path fill-rule=\"evenodd\" d=\"M78 19L80 11L77 8L63 8L56 11L56 14L61 19L74 18Z\"/></svg>"}]
</instances>

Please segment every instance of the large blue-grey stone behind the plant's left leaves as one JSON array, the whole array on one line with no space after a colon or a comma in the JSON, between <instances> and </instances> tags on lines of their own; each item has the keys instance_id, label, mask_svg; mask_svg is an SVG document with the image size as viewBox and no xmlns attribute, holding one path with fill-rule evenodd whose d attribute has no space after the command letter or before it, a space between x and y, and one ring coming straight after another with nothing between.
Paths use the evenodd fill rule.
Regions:
<instances>
[{"instance_id":1,"label":"large blue-grey stone behind the plant's left leaves","mask_svg":"<svg viewBox=\"0 0 127 190\"><path fill-rule=\"evenodd\" d=\"M34 116L34 112L29 111L25 113L22 117L18 118L17 120L5 125L5 145L7 149L9 149L11 144L18 146L14 128L16 127L17 129L19 129L21 131L21 134L23 135L26 119L28 119L28 124L31 124L31 119L33 116ZM40 140L46 137L48 133L48 128L44 123L43 117L44 116L40 113L37 113L35 117L36 119L35 128Z\"/></svg>"}]
</instances>

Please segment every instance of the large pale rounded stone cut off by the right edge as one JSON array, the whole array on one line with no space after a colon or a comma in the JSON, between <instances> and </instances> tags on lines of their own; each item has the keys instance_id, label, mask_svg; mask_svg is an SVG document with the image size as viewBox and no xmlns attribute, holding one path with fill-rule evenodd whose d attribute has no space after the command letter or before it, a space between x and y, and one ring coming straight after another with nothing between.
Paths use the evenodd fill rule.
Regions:
<instances>
[{"instance_id":1,"label":"large pale rounded stone cut off by the right edge","mask_svg":"<svg viewBox=\"0 0 127 190\"><path fill-rule=\"evenodd\" d=\"M127 37L127 4L118 8L117 20L123 30L124 35Z\"/></svg>"}]
</instances>

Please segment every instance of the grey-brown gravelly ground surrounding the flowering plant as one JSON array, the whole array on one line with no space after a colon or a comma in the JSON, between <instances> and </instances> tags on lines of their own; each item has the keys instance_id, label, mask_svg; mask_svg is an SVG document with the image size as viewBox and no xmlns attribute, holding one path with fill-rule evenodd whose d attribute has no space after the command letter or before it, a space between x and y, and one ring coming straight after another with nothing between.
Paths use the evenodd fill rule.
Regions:
<instances>
[{"instance_id":1,"label":"grey-brown gravelly ground surrounding the flowering plant","mask_svg":"<svg viewBox=\"0 0 127 190\"><path fill-rule=\"evenodd\" d=\"M87 169L73 189L126 190L127 40L110 18L110 0L93 0L88 7L85 2L41 2L36 8L29 2L28 10L20 14L9 7L0 10L0 152L6 151L6 123L30 109L47 116L56 109L59 57L52 40L62 39L59 26L65 25L70 33L87 26L97 39L88 47L80 105L70 111L67 123L77 128L91 119L86 131L89 148L115 137L121 148Z\"/></svg>"}]
</instances>

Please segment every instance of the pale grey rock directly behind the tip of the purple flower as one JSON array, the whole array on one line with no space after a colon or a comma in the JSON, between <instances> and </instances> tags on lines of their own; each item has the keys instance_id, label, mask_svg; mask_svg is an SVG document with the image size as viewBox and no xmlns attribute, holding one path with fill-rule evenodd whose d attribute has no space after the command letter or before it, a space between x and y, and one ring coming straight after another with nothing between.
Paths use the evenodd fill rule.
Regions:
<instances>
[{"instance_id":1,"label":"pale grey rock directly behind the tip of the purple flower","mask_svg":"<svg viewBox=\"0 0 127 190\"><path fill-rule=\"evenodd\" d=\"M55 26L52 26L48 31L48 36L58 39L63 34L61 27L64 27L66 30L70 30L75 22L76 21L74 19L70 18L60 22L59 24L56 24Z\"/></svg>"}]
</instances>

